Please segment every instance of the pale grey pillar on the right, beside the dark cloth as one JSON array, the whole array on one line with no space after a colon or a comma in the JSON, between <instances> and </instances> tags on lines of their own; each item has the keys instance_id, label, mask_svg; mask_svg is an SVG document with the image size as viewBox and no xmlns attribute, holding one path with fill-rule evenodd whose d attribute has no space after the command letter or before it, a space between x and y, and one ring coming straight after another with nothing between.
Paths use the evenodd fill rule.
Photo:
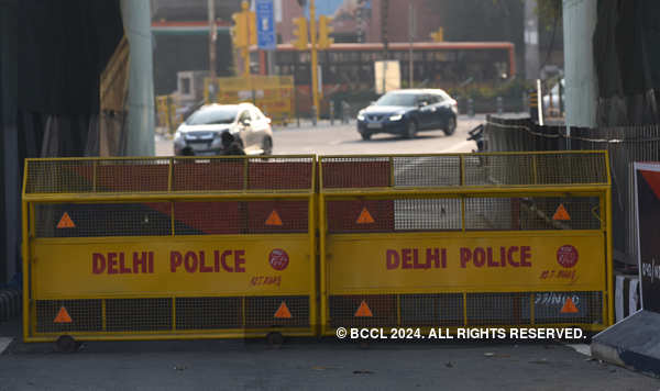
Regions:
<instances>
[{"instance_id":1,"label":"pale grey pillar on the right, beside the dark cloth","mask_svg":"<svg viewBox=\"0 0 660 391\"><path fill-rule=\"evenodd\" d=\"M598 85L593 36L597 1L563 0L565 121L568 126L596 126Z\"/></svg>"}]
</instances>

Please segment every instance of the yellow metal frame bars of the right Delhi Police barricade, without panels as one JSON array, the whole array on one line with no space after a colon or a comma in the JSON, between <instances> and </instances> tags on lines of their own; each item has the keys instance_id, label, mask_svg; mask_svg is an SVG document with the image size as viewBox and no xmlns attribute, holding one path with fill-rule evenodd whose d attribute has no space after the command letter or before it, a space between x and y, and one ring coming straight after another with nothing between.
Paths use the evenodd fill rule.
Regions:
<instances>
[{"instance_id":1,"label":"yellow metal frame bars of the right Delhi Police barricade, without panels","mask_svg":"<svg viewBox=\"0 0 660 391\"><path fill-rule=\"evenodd\" d=\"M418 159L419 161L424 161L424 159L442 159L454 157L458 161L460 161L460 172L458 174L459 182L453 186L397 186L395 181L395 160L396 159ZM530 174L528 176L529 183L492 183L492 185L472 185L469 183L466 179L466 161L470 159L480 159L480 161L487 165L488 159L515 159L517 157L526 157L529 159ZM600 179L597 180L584 180L584 181L575 181L571 183L543 183L542 176L539 176L541 172L540 168L537 167L537 164L541 161L546 161L549 158L556 159L569 159L575 158L575 161L580 159L596 159L598 164L595 165L597 169L602 170L600 172ZM386 186L376 186L373 185L371 187L342 187L342 186L328 186L324 183L324 174L328 170L328 166L332 163L358 163L358 161L385 161L389 165L389 181ZM558 160L559 161L559 160ZM560 161L561 163L561 161ZM593 163L593 161L592 161ZM592 167L593 168L593 167ZM324 171L326 170L326 171ZM344 176L351 177L350 169L346 168ZM367 177L369 175L362 172L363 176ZM506 175L505 175L506 177ZM547 178L546 178L547 179ZM334 177L336 181L340 181ZM610 214L610 203L612 203L612 194L610 194L610 177L609 177L609 160L607 156L607 152L536 152L536 153L483 153L483 154L430 154L430 155L360 155L360 156L346 156L346 155L336 155L336 156L320 156L319 157L319 225L320 225L320 234L319 234L319 245L320 245L320 324L321 324L321 334L322 335L334 335L337 326L386 326L385 324L376 324L369 323L369 319L356 319L358 314L353 315L355 319L348 320L341 317L342 321L345 321L346 324L337 324L337 321L331 317L330 312L330 298L333 295L353 295L353 297L369 297L375 295L376 300L380 297L387 297L388 300L396 300L396 304L393 308L396 308L396 324L393 324L393 327L405 327L406 324L402 323L402 297L405 294L416 294L416 293L460 293L463 295L462 298L462 312L463 319L461 324L458 325L442 325L437 324L435 326L443 326L451 332L455 332L459 327L479 327L479 326L496 326L503 328L517 327L517 326L528 326L528 327L563 327L563 326L574 326L579 325L580 327L596 332L604 329L608 325L614 322L614 313L613 313L613 265L612 265L612 214ZM515 198L515 197L565 197L565 196L581 196L581 197L592 197L598 200L598 205L601 208L601 224L597 230L579 230L579 231L479 231L472 230L466 231L465 228L465 203L466 200L471 198ZM396 232L396 233L331 233L329 228L329 220L328 220L328 202L336 201L352 201L352 202L367 202L367 201L377 201L377 200L425 200L425 199L436 199L436 198L447 198L447 199L457 199L460 200L461 210L460 210L460 219L461 219L461 230L459 231L450 231L450 232L414 232L405 233L405 232ZM396 201L393 201L396 202ZM334 213L334 212L333 212ZM593 213L593 210L592 210ZM332 214L334 219L337 219L336 214ZM596 216L597 217L597 216ZM393 223L394 224L394 223ZM562 293L558 287L553 287L550 289L542 290L541 287L538 289L491 289L484 290L475 287L447 287L447 288L414 288L414 287L398 287L398 288L383 288L383 289L367 289L367 288L354 288L354 289L344 289L333 291L331 287L332 277L338 277L339 272L334 276L331 276L329 272L329 268L333 267L334 259L341 258L344 259L348 257L348 253L344 250L339 255L336 255L337 248L332 247L332 243L329 244L332 237L339 237L342 241L353 241L355 243L364 243L366 241L382 241L389 239L392 242L396 242L402 239L403 237L416 236L421 238L447 238L451 239L482 239L484 237L491 238L507 238L507 237L518 237L518 236L541 236L541 237L564 237L565 235L570 236L592 236L592 237L601 237L602 238L602 247L604 253L604 262L601 265L603 268L603 279L600 281L598 291L602 292L602 322L593 323L593 324L584 324L582 322L571 322L571 320L566 320L565 323L552 322L551 324L540 324L535 321L535 294L540 292L558 292ZM339 241L339 238L337 241ZM362 242L359 242L362 241ZM351 247L359 248L359 247ZM372 247L365 249L363 253L360 250L355 250L356 257L363 256L369 257L370 260L373 260L369 254L373 254L374 250ZM332 255L332 259L329 259L329 255ZM559 257L559 256L558 256ZM362 258L364 259L364 258ZM353 259L353 264L361 261L362 259ZM417 262L417 259L415 260ZM373 262L370 264L373 266ZM367 268L361 268L360 271L363 273L367 272ZM346 270L342 269L345 273ZM372 272L371 278L377 276L377 272ZM340 277L341 279L342 277ZM351 283L358 283L358 278L351 279ZM382 281L382 280L381 280ZM346 283L348 286L348 283ZM566 291L566 289L564 289ZM480 294L487 292L493 293L530 293L529 295L529 311L530 319L529 322L524 324L480 324L470 323L468 319L468 295L471 293ZM568 292L566 292L568 293ZM588 292L584 292L588 293ZM392 298L392 295L394 298ZM359 300L358 300L359 302ZM353 303L355 304L355 303ZM362 305L360 305L362 306ZM345 310L345 309L344 309ZM351 311L358 310L355 306L352 308ZM339 310L336 310L336 313L339 313ZM343 311L346 313L346 311ZM371 315L370 315L371 316ZM374 315L375 316L375 315ZM364 322L363 322L364 321ZM334 324L332 324L334 322ZM352 322L352 323L351 323ZM389 324L387 324L389 325ZM422 329L428 331L429 327L421 327ZM387 332L387 329L386 329Z\"/></svg>"}]
</instances>

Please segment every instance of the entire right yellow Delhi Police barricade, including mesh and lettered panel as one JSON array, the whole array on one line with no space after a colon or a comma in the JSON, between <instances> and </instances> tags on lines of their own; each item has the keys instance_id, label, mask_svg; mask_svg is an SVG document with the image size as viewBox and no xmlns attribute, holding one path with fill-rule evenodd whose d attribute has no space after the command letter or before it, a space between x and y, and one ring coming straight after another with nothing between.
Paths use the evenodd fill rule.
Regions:
<instances>
[{"instance_id":1,"label":"entire right yellow Delhi Police barricade, including mesh and lettered panel","mask_svg":"<svg viewBox=\"0 0 660 391\"><path fill-rule=\"evenodd\" d=\"M608 172L605 152L320 157L321 333L605 328Z\"/></svg>"}]
</instances>

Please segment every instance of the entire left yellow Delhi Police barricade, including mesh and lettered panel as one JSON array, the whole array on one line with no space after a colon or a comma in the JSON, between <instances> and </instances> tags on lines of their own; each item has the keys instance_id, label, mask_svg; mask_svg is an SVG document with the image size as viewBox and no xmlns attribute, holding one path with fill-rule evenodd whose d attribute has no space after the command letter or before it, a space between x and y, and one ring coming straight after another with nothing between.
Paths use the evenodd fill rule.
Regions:
<instances>
[{"instance_id":1,"label":"entire left yellow Delhi Police barricade, including mesh and lettered panel","mask_svg":"<svg viewBox=\"0 0 660 391\"><path fill-rule=\"evenodd\" d=\"M24 338L315 335L314 156L28 159Z\"/></svg>"}]
</instances>

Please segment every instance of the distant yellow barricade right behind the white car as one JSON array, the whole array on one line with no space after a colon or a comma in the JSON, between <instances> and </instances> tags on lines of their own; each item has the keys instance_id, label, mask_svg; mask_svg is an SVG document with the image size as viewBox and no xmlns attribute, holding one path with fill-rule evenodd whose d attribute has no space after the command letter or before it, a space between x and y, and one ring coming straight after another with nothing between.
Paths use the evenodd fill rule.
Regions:
<instances>
[{"instance_id":1,"label":"distant yellow barricade right behind the white car","mask_svg":"<svg viewBox=\"0 0 660 391\"><path fill-rule=\"evenodd\" d=\"M270 116L274 123L288 123L294 112L294 78L292 76L260 76L217 78L213 102L234 104L252 102ZM205 79L205 100L209 96L210 79Z\"/></svg>"}]
</instances>

